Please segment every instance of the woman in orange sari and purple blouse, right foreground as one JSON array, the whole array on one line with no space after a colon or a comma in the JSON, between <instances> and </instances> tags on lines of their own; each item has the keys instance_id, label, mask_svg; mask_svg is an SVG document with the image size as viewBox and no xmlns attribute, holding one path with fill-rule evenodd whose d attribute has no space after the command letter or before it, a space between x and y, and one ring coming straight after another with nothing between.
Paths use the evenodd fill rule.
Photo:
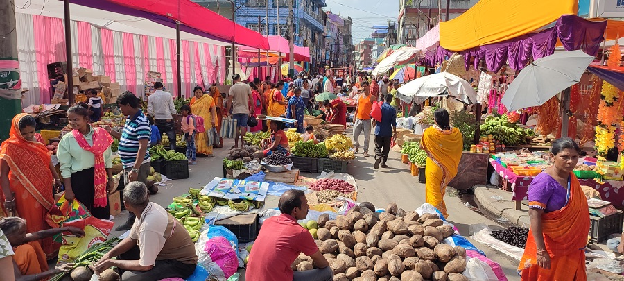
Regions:
<instances>
[{"instance_id":1,"label":"woman in orange sari and purple blouse, right foreground","mask_svg":"<svg viewBox=\"0 0 624 281\"><path fill-rule=\"evenodd\" d=\"M551 148L555 164L537 175L528 189L531 226L518 266L522 280L587 280L589 209L572 173L580 152L569 137L555 140Z\"/></svg>"}]
</instances>

